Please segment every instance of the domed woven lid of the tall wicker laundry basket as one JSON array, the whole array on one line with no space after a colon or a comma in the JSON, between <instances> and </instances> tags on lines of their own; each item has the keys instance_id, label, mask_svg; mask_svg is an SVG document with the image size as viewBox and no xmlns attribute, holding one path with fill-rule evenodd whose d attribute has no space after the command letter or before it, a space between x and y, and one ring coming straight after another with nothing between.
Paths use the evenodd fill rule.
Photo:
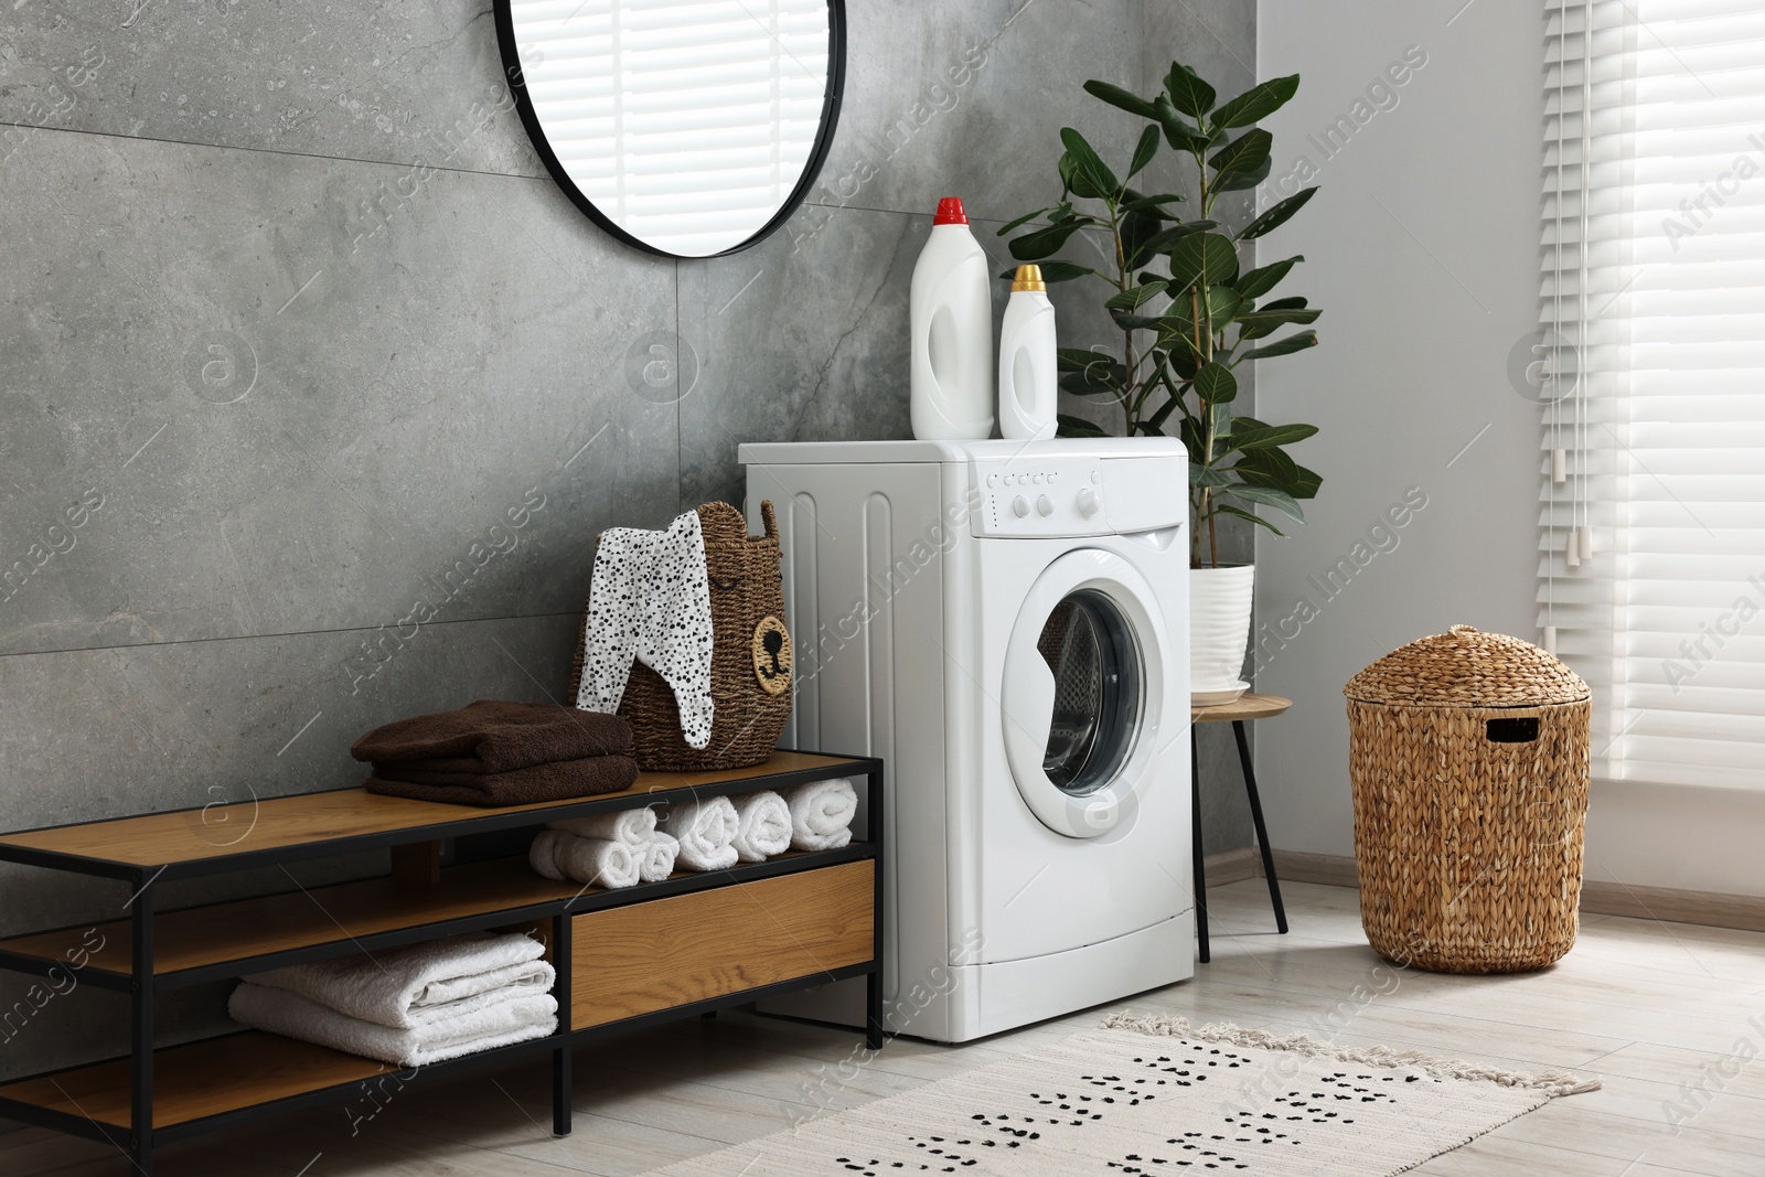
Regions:
<instances>
[{"instance_id":1,"label":"domed woven lid of the tall wicker laundry basket","mask_svg":"<svg viewBox=\"0 0 1765 1177\"><path fill-rule=\"evenodd\" d=\"M1587 699L1581 676L1532 642L1454 625L1366 667L1341 688L1361 702L1527 708Z\"/></svg>"}]
</instances>

